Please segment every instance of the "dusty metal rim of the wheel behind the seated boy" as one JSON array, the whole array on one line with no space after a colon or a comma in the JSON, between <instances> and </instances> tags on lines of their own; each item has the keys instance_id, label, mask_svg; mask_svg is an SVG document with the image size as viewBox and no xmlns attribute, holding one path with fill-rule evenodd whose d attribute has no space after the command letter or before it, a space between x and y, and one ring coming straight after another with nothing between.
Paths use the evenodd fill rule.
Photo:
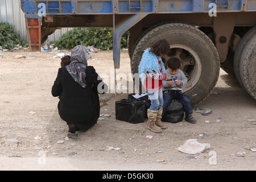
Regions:
<instances>
[{"instance_id":1,"label":"dusty metal rim of the wheel behind the seated boy","mask_svg":"<svg viewBox=\"0 0 256 182\"><path fill-rule=\"evenodd\" d=\"M163 57L163 62L167 68L167 60L171 57L176 57L181 61L181 70L188 78L188 82L183 86L183 92L192 89L200 79L201 76L201 61L197 53L190 47L181 44L172 44L170 46L170 53Z\"/></svg>"}]
</instances>

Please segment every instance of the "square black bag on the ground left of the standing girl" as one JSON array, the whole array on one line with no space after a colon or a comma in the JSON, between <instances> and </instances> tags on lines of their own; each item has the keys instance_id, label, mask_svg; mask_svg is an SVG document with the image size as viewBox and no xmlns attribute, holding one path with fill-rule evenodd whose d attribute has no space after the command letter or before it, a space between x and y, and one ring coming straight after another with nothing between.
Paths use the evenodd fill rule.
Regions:
<instances>
[{"instance_id":1,"label":"square black bag on the ground left of the standing girl","mask_svg":"<svg viewBox=\"0 0 256 182\"><path fill-rule=\"evenodd\" d=\"M123 99L115 102L115 119L129 123L143 123L145 118L144 102Z\"/></svg>"}]
</instances>

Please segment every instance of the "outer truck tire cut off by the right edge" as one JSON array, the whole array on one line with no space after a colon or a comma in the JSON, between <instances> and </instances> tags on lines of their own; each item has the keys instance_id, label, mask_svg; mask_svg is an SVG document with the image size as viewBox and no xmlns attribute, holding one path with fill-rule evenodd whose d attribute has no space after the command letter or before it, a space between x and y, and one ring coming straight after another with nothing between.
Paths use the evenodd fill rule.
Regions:
<instances>
[{"instance_id":1,"label":"outer truck tire cut off by the right edge","mask_svg":"<svg viewBox=\"0 0 256 182\"><path fill-rule=\"evenodd\" d=\"M240 60L240 77L247 92L256 100L256 34L243 49Z\"/></svg>"}]
</instances>

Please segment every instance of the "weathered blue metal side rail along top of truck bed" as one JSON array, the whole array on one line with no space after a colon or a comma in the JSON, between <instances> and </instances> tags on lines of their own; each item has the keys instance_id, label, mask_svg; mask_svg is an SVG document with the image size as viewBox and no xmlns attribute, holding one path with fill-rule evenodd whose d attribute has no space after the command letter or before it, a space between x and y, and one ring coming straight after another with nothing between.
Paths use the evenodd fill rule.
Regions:
<instances>
[{"instance_id":1,"label":"weathered blue metal side rail along top of truck bed","mask_svg":"<svg viewBox=\"0 0 256 182\"><path fill-rule=\"evenodd\" d=\"M217 12L256 11L256 0L20 0L26 14L36 14L37 5L47 5L47 14L137 14L137 13L207 13L209 3ZM245 9L243 9L245 5Z\"/></svg>"}]
</instances>

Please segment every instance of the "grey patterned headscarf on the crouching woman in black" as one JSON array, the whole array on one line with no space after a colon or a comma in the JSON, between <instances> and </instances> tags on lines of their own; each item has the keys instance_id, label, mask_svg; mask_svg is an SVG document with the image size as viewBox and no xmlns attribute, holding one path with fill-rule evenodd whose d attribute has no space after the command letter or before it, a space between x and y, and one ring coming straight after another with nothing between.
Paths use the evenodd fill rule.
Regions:
<instances>
[{"instance_id":1,"label":"grey patterned headscarf on the crouching woman in black","mask_svg":"<svg viewBox=\"0 0 256 182\"><path fill-rule=\"evenodd\" d=\"M76 46L71 52L71 63L66 66L68 73L73 79L86 88L86 73L87 60L90 58L90 49L85 46Z\"/></svg>"}]
</instances>

